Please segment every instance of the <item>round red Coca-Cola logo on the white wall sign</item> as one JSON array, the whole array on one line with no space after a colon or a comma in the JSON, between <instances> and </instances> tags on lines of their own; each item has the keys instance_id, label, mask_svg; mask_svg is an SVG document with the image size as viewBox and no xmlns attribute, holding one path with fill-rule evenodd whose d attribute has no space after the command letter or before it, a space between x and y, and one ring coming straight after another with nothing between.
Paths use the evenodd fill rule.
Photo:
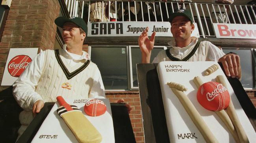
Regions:
<instances>
[{"instance_id":1,"label":"round red Coca-Cola logo on the white wall sign","mask_svg":"<svg viewBox=\"0 0 256 143\"><path fill-rule=\"evenodd\" d=\"M9 74L14 77L19 77L31 61L31 58L27 55L15 56L8 63Z\"/></svg>"}]
</instances>

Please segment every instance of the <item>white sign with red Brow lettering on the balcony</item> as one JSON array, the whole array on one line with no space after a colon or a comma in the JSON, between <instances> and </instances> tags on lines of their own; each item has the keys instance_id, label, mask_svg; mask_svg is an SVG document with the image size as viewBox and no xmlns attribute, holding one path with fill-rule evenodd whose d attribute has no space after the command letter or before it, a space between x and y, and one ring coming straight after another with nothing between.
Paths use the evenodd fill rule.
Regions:
<instances>
[{"instance_id":1,"label":"white sign with red Brow lettering on the balcony","mask_svg":"<svg viewBox=\"0 0 256 143\"><path fill-rule=\"evenodd\" d=\"M217 38L256 39L254 24L217 24L213 23Z\"/></svg>"}]
</instances>

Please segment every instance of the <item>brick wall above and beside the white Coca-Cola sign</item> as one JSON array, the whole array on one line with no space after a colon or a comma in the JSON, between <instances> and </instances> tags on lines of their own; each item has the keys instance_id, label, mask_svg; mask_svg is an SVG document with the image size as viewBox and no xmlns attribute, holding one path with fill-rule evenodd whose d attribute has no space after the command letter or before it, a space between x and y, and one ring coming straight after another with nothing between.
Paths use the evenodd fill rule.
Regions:
<instances>
[{"instance_id":1,"label":"brick wall above and beside the white Coca-Cola sign","mask_svg":"<svg viewBox=\"0 0 256 143\"><path fill-rule=\"evenodd\" d=\"M57 0L12 0L0 42L1 81L10 48L53 49L59 12Z\"/></svg>"}]
</instances>

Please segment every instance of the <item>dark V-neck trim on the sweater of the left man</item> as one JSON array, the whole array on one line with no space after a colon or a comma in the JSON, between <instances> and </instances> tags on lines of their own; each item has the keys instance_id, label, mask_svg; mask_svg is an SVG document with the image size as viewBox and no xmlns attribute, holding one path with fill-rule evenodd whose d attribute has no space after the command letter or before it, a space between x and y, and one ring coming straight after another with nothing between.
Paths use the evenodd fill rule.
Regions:
<instances>
[{"instance_id":1,"label":"dark V-neck trim on the sweater of the left man","mask_svg":"<svg viewBox=\"0 0 256 143\"><path fill-rule=\"evenodd\" d=\"M55 50L55 57L60 65L60 67L62 68L62 71L64 72L64 74L66 75L67 79L71 79L74 76L76 76L77 74L79 74L81 71L83 71L90 63L90 60L86 60L86 62L84 63L84 65L82 65L81 67L79 67L77 70L73 71L73 72L69 72L67 70L67 67L65 67L64 63L62 62L61 58L60 58L60 53L59 50Z\"/></svg>"}]
</instances>

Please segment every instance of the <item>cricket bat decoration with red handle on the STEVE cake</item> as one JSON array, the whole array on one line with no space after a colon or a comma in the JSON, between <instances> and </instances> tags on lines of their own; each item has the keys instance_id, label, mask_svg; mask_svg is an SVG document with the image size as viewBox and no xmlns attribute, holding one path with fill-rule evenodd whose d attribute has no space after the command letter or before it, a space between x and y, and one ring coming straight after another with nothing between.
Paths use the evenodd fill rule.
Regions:
<instances>
[{"instance_id":1,"label":"cricket bat decoration with red handle on the STEVE cake","mask_svg":"<svg viewBox=\"0 0 256 143\"><path fill-rule=\"evenodd\" d=\"M58 114L73 132L79 143L100 143L102 136L75 105L69 105L62 96L57 97Z\"/></svg>"}]
</instances>

